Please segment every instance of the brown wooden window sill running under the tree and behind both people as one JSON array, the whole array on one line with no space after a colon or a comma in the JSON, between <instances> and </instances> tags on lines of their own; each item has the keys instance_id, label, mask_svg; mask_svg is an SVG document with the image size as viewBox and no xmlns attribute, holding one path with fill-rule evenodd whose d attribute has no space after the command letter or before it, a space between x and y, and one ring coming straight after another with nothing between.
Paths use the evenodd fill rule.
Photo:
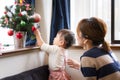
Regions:
<instances>
[{"instance_id":1,"label":"brown wooden window sill running under the tree and behind both people","mask_svg":"<svg viewBox=\"0 0 120 80\"><path fill-rule=\"evenodd\" d=\"M120 50L120 44L111 44L110 47L112 48L112 50ZM70 47L69 49L78 50L78 49L83 49L83 48L78 45L74 45ZM28 48L21 48L21 49L4 50L0 52L0 58L5 57L5 56L22 54L22 53L25 54L25 53L29 53L28 51L35 51L35 50L38 51L40 50L40 48L39 47L28 47Z\"/></svg>"}]
</instances>

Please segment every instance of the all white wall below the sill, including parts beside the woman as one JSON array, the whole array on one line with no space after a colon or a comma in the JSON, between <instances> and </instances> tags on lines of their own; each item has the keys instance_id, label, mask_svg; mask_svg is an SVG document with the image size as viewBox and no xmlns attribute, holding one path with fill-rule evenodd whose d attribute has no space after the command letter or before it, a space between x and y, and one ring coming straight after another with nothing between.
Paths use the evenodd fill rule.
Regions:
<instances>
[{"instance_id":1,"label":"all white wall below the sill, including parts beside the woman","mask_svg":"<svg viewBox=\"0 0 120 80\"><path fill-rule=\"evenodd\" d=\"M79 61L83 49L69 49L68 58ZM113 50L120 61L120 49ZM7 54L7 53L6 53ZM0 79L3 77L18 74L48 63L48 56L39 49L18 52L16 55L0 57ZM66 67L67 72L71 75L72 80L84 80L81 71Z\"/></svg>"}]
</instances>

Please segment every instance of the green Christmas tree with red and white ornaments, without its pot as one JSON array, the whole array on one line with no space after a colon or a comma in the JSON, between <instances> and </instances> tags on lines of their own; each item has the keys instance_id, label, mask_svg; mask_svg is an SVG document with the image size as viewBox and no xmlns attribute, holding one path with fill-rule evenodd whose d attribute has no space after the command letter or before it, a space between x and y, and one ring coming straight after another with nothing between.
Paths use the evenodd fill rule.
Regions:
<instances>
[{"instance_id":1,"label":"green Christmas tree with red and white ornaments, without its pot","mask_svg":"<svg viewBox=\"0 0 120 80\"><path fill-rule=\"evenodd\" d=\"M14 31L18 32L17 35L20 35L21 31L32 34L35 30L34 24L38 23L40 19L38 14L34 14L32 5L24 0L16 0L13 5L5 6L5 12L0 19L0 23L1 27L10 29L8 35L12 36Z\"/></svg>"}]
</instances>

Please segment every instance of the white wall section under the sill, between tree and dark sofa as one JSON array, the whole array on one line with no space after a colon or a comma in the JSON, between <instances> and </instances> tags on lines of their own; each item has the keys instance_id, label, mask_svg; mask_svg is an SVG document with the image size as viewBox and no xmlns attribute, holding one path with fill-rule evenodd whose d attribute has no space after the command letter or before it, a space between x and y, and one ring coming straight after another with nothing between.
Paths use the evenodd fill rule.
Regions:
<instances>
[{"instance_id":1,"label":"white wall section under the sill, between tree and dark sofa","mask_svg":"<svg viewBox=\"0 0 120 80\"><path fill-rule=\"evenodd\" d=\"M0 57L0 79L45 64L47 64L47 55L40 50L22 51L17 52L16 55Z\"/></svg>"}]
</instances>

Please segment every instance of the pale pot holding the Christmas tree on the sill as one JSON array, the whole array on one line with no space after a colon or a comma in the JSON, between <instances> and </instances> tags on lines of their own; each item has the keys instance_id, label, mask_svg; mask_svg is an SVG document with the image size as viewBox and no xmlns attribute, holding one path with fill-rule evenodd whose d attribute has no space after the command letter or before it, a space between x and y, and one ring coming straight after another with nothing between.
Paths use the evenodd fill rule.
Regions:
<instances>
[{"instance_id":1,"label":"pale pot holding the Christmas tree on the sill","mask_svg":"<svg viewBox=\"0 0 120 80\"><path fill-rule=\"evenodd\" d=\"M21 33L22 37L17 37L17 34ZM20 49L25 47L27 32L16 32L14 31L14 47L15 49Z\"/></svg>"}]
</instances>

